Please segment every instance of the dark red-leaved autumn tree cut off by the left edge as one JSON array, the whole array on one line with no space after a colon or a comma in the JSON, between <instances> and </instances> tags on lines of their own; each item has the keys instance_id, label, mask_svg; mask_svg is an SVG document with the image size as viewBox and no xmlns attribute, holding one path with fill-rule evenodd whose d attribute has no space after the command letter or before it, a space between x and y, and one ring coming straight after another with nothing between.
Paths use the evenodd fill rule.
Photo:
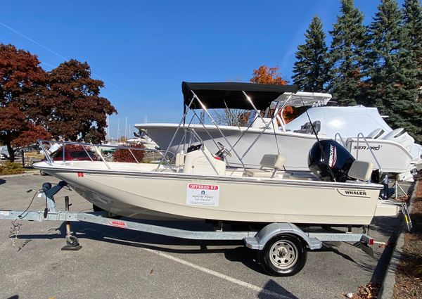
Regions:
<instances>
[{"instance_id":1,"label":"dark red-leaved autumn tree cut off by the left edge","mask_svg":"<svg viewBox=\"0 0 422 299\"><path fill-rule=\"evenodd\" d=\"M34 121L45 83L46 72L37 56L0 44L0 143L7 146L11 161L13 147L50 136Z\"/></svg>"}]
</instances>

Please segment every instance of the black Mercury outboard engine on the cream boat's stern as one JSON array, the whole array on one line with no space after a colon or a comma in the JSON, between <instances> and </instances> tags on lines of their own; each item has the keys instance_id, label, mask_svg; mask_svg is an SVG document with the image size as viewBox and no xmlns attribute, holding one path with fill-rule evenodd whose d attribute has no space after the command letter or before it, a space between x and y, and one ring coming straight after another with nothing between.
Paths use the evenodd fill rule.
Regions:
<instances>
[{"instance_id":1,"label":"black Mercury outboard engine on the cream boat's stern","mask_svg":"<svg viewBox=\"0 0 422 299\"><path fill-rule=\"evenodd\" d=\"M316 177L327 182L346 182L352 178L347 176L354 162L351 153L332 139L316 142L308 155L309 170Z\"/></svg>"}]
</instances>

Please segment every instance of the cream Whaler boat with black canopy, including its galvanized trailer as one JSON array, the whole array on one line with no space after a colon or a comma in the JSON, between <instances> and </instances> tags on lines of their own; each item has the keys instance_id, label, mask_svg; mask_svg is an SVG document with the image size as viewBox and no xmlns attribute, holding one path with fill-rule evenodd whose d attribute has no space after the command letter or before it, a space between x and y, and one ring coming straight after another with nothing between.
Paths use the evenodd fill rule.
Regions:
<instances>
[{"instance_id":1,"label":"cream Whaler boat with black canopy, including its galvanized trailer","mask_svg":"<svg viewBox=\"0 0 422 299\"><path fill-rule=\"evenodd\" d=\"M194 128L184 127L188 110L196 106L207 113L207 108L224 108L246 97L252 105L260 107L264 101L267 105L274 98L293 96L297 87L198 84L194 90L190 89L191 96L188 96L186 88L189 86L184 84L184 116L174 134L177 136L179 130L186 132L189 142L182 141L175 156L169 155L167 150L161 153L159 164L118 163L103 158L101 145L61 142L63 153L65 147L72 144L82 146L85 151L94 151L98 159L58 161L44 151L46 160L34 164L34 167L63 182L53 188L43 187L41 193L49 209L44 213L28 214L27 219L86 221L181 238L243 239L248 248L258 250L260 262L267 272L286 276L300 271L305 265L307 250L321 248L321 241L371 243L372 240L366 234L312 233L300 227L366 226L373 217L396 216L400 206L407 213L405 205L386 200L388 186L371 182L373 165L354 160L336 141L317 140L312 146L307 157L311 172L288 172L283 167L286 162L283 155L264 154L260 158L259 169L245 167L241 155L224 138L224 134L222 138L231 149L216 142L218 151L212 153ZM210 90L218 92L208 98L206 95ZM267 97L259 98L262 91L266 91ZM262 128L263 132L271 122ZM262 134L258 134L256 139L260 136ZM51 142L39 141L39 144L46 148L46 143ZM121 149L132 153L134 158L133 151L139 150L130 147ZM236 156L242 167L229 167L226 157L230 155ZM210 220L220 224L257 223L264 227L255 232L181 232L86 213L61 213L56 211L53 195L65 184L96 207L114 215L158 220ZM66 208L68 210L68 203ZM0 211L0 218L15 219L16 215L18 212ZM70 229L68 238L75 243Z\"/></svg>"}]
</instances>

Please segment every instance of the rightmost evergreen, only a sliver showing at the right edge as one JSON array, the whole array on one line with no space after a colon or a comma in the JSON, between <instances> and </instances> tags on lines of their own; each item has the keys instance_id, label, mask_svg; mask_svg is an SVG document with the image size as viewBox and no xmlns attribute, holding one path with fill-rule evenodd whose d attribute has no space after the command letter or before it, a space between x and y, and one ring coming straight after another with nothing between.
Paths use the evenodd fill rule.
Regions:
<instances>
[{"instance_id":1,"label":"rightmost evergreen, only a sliver showing at the right edge","mask_svg":"<svg viewBox=\"0 0 422 299\"><path fill-rule=\"evenodd\" d=\"M419 84L422 81L422 6L419 0L405 0L403 4L404 27L409 38L409 50L416 58ZM420 86L420 85L419 85ZM419 94L422 101L422 94Z\"/></svg>"}]
</instances>

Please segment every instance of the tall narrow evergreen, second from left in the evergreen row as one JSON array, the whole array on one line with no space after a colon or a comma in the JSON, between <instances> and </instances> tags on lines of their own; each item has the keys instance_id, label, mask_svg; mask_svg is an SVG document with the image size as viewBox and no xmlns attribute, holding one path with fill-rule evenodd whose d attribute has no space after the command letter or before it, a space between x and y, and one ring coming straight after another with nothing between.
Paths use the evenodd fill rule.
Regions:
<instances>
[{"instance_id":1,"label":"tall narrow evergreen, second from left in the evergreen row","mask_svg":"<svg viewBox=\"0 0 422 299\"><path fill-rule=\"evenodd\" d=\"M329 60L331 82L328 90L340 106L362 103L362 63L366 42L364 15L353 0L342 0L340 15L330 32L333 37Z\"/></svg>"}]
</instances>

